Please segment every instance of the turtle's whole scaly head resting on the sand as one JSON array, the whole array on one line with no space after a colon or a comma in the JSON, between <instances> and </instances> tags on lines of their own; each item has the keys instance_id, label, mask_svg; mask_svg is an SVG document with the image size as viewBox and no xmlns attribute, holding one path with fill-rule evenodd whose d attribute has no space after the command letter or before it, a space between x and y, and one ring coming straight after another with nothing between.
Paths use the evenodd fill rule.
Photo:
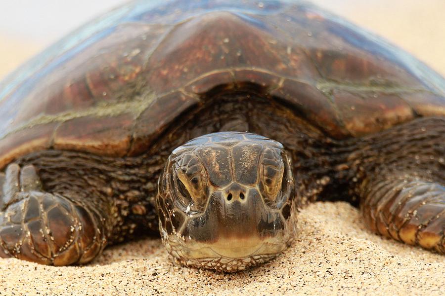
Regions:
<instances>
[{"instance_id":1,"label":"turtle's whole scaly head resting on the sand","mask_svg":"<svg viewBox=\"0 0 445 296\"><path fill-rule=\"evenodd\" d=\"M159 179L162 241L183 264L245 269L290 244L293 197L280 143L239 132L195 138L172 152Z\"/></svg>"}]
</instances>

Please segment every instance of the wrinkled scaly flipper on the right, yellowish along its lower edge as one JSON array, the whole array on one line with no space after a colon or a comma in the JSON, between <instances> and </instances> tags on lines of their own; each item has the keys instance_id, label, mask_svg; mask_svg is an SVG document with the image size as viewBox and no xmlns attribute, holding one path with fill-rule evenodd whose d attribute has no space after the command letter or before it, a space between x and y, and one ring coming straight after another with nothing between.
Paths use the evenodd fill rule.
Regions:
<instances>
[{"instance_id":1,"label":"wrinkled scaly flipper on the right, yellowish along its lower edge","mask_svg":"<svg viewBox=\"0 0 445 296\"><path fill-rule=\"evenodd\" d=\"M445 119L415 120L364 142L356 193L365 223L445 254Z\"/></svg>"}]
</instances>

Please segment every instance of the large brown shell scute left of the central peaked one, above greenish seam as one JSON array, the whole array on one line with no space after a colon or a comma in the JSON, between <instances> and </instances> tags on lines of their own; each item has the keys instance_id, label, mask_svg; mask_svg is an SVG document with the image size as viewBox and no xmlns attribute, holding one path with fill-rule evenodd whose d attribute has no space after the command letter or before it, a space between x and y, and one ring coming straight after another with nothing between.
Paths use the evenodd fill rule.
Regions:
<instances>
[{"instance_id":1,"label":"large brown shell scute left of the central peaked one, above greenish seam","mask_svg":"<svg viewBox=\"0 0 445 296\"><path fill-rule=\"evenodd\" d=\"M7 124L6 132L9 132L39 116L86 110L100 102L128 100L138 91L137 87L129 86L137 85L135 80L141 72L146 51L151 50L155 36L162 34L164 29L138 24L118 26L113 34L47 74L16 107L3 106L12 100L3 98L0 123L6 118L2 116L6 111L11 112L14 119L12 124ZM143 40L143 35L148 35L148 39ZM139 48L142 51L137 52Z\"/></svg>"}]
</instances>

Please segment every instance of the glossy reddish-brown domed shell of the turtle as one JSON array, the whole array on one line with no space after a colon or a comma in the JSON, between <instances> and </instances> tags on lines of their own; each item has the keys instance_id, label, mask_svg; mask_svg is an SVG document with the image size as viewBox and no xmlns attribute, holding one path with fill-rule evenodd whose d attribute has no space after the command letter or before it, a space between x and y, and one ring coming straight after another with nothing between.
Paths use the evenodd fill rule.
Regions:
<instances>
[{"instance_id":1,"label":"glossy reddish-brown domed shell of the turtle","mask_svg":"<svg viewBox=\"0 0 445 296\"><path fill-rule=\"evenodd\" d=\"M327 136L445 115L445 81L311 4L136 1L0 84L0 168L38 149L137 155L218 89L256 86Z\"/></svg>"}]
</instances>

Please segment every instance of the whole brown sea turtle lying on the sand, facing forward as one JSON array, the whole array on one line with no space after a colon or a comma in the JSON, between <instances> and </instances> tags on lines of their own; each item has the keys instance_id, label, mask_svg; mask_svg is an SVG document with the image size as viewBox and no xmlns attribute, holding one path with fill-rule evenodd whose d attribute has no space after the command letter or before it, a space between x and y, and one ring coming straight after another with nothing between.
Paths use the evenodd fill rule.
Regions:
<instances>
[{"instance_id":1,"label":"whole brown sea turtle lying on the sand, facing forward","mask_svg":"<svg viewBox=\"0 0 445 296\"><path fill-rule=\"evenodd\" d=\"M242 270L315 200L445 253L444 157L444 79L344 20L131 2L1 84L0 256L86 263L160 229L181 263Z\"/></svg>"}]
</instances>

